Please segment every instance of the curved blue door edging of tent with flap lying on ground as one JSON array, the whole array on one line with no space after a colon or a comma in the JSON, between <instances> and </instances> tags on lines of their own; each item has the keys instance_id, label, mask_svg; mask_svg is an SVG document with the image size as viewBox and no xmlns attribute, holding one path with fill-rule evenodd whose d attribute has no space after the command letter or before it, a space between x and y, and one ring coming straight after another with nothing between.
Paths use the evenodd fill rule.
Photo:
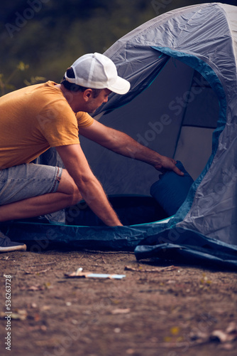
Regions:
<instances>
[{"instance_id":1,"label":"curved blue door edging of tent with flap lying on ground","mask_svg":"<svg viewBox=\"0 0 237 356\"><path fill-rule=\"evenodd\" d=\"M197 58L197 56L193 56L189 53L182 53L170 48L153 48L171 56L172 58L179 59L201 73L209 82L211 88L216 92L216 95L219 98L220 111L218 127L213 134L211 156L209 157L209 161L204 167L204 170L192 184L187 198L177 213L172 216L170 221L168 221L165 226L160 224L156 234L154 231L153 236L143 239L143 241L140 241L138 246L136 246L134 251L136 258L140 260L143 258L156 257L162 260L186 261L198 264L207 263L211 266L237 269L237 246L211 239L197 231L180 229L177 227L177 224L184 219L193 204L197 188L202 182L206 172L208 172L211 162L214 159L214 155L216 154L219 135L226 125L226 95L224 93L224 88L214 69L211 68L211 63L206 63L200 58Z\"/></svg>"}]
</instances>

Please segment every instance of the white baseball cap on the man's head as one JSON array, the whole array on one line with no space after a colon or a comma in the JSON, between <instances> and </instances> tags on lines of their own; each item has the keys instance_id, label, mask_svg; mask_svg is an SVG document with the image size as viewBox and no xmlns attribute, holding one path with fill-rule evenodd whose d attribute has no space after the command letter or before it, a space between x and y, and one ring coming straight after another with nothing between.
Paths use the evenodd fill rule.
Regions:
<instances>
[{"instance_id":1,"label":"white baseball cap on the man's head","mask_svg":"<svg viewBox=\"0 0 237 356\"><path fill-rule=\"evenodd\" d=\"M118 76L116 66L110 58L100 53L88 53L72 64L75 78L65 79L85 88L109 89L117 94L126 94L130 89L128 80Z\"/></svg>"}]
</instances>

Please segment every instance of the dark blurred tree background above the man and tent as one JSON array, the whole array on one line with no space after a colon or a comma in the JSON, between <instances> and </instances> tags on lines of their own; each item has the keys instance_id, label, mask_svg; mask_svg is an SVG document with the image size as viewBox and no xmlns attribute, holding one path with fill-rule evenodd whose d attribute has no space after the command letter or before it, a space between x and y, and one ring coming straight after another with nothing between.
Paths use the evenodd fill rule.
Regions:
<instances>
[{"instance_id":1,"label":"dark blurred tree background above the man and tent","mask_svg":"<svg viewBox=\"0 0 237 356\"><path fill-rule=\"evenodd\" d=\"M140 24L198 0L1 1L1 94L45 80L60 82L85 53L104 53ZM219 1L237 6L237 1ZM7 87L7 88L4 88Z\"/></svg>"}]
</instances>

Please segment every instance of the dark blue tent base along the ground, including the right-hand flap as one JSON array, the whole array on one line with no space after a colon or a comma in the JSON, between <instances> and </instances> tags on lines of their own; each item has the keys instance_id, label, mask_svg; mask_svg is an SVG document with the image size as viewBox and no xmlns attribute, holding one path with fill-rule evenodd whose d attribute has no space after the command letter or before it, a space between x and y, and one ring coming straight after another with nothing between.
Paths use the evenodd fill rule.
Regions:
<instances>
[{"instance_id":1,"label":"dark blue tent base along the ground, including the right-hand flap","mask_svg":"<svg viewBox=\"0 0 237 356\"><path fill-rule=\"evenodd\" d=\"M94 251L134 251L137 260L188 263L237 270L237 246L168 223L134 226L77 226L14 221L8 235L31 242L29 251L43 252L52 243Z\"/></svg>"}]
</instances>

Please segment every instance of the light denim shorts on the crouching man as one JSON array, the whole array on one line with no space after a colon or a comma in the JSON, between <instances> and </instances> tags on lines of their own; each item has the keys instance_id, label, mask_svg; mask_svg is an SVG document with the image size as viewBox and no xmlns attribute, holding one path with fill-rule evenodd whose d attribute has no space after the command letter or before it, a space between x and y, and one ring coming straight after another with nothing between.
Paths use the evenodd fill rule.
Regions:
<instances>
[{"instance_id":1,"label":"light denim shorts on the crouching man","mask_svg":"<svg viewBox=\"0 0 237 356\"><path fill-rule=\"evenodd\" d=\"M0 169L0 205L55 193L62 176L62 168L43 164L19 164Z\"/></svg>"}]
</instances>

